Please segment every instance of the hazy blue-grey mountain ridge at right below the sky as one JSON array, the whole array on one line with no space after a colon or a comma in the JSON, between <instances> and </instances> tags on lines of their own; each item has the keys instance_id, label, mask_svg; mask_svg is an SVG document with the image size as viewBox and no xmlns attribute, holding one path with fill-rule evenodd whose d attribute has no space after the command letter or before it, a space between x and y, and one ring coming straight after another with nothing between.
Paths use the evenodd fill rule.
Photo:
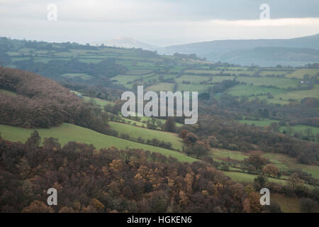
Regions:
<instances>
[{"instance_id":1,"label":"hazy blue-grey mountain ridge at right below the sky","mask_svg":"<svg viewBox=\"0 0 319 227\"><path fill-rule=\"evenodd\" d=\"M319 34L291 39L215 40L157 49L161 54L195 53L213 62L262 66L304 65L318 62Z\"/></svg>"}]
</instances>

